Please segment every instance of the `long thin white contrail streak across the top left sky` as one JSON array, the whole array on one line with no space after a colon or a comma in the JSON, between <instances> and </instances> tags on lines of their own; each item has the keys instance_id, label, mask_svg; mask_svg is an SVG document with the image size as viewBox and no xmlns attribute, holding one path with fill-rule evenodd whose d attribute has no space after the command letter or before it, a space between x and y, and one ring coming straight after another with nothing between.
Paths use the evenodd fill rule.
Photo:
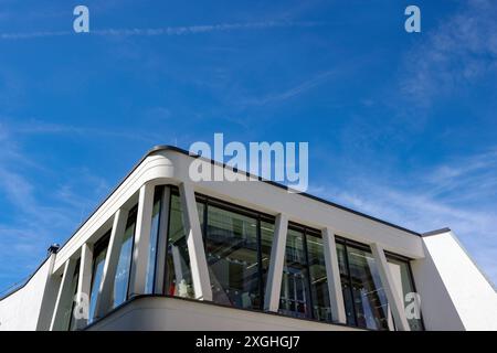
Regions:
<instances>
[{"instance_id":1,"label":"long thin white contrail streak across the top left sky","mask_svg":"<svg viewBox=\"0 0 497 353\"><path fill-rule=\"evenodd\" d=\"M186 26L166 26L156 29L102 29L91 30L83 35L97 36L178 36L189 34L201 34L209 32L230 32L243 30L265 30L276 28L305 28L322 25L322 22L294 22L294 21L263 21L246 23L220 23L220 24L195 24ZM31 40L38 38L82 35L72 31L35 31L35 32L14 32L0 33L2 40Z\"/></svg>"}]
</instances>

